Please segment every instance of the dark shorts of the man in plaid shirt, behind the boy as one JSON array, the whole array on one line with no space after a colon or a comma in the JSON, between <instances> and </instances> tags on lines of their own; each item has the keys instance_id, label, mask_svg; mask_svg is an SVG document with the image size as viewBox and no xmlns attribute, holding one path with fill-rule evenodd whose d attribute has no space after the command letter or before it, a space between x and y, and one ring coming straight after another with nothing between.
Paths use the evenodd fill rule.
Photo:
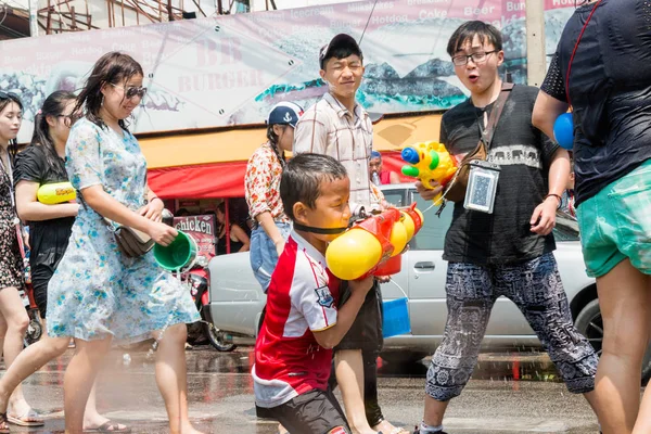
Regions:
<instances>
[{"instance_id":1,"label":"dark shorts of the man in plaid shirt, behind the boy","mask_svg":"<svg viewBox=\"0 0 651 434\"><path fill-rule=\"evenodd\" d=\"M340 306L350 296L348 282L342 282L342 297ZM381 352L384 345L382 337L382 292L380 283L375 280L373 288L367 294L363 305L359 308L359 312L344 336L342 342L334 347L334 350L340 349L361 349L365 352Z\"/></svg>"}]
</instances>

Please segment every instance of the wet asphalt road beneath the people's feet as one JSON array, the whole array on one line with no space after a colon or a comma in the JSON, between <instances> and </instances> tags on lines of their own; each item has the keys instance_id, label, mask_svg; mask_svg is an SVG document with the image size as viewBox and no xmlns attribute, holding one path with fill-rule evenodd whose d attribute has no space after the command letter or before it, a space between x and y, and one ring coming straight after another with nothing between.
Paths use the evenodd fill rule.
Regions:
<instances>
[{"instance_id":1,"label":"wet asphalt road beneath the people's feet","mask_svg":"<svg viewBox=\"0 0 651 434\"><path fill-rule=\"evenodd\" d=\"M108 418L130 425L133 433L167 433L148 345L111 353L100 375L98 407ZM12 432L63 432L62 383L71 355L68 350L24 383L27 399L48 413L46 426L12 425ZM251 347L217 353L200 346L187 356L190 416L197 429L206 433L277 432L276 423L255 417ZM422 418L425 373L426 359L405 366L381 363L380 403L394 424L412 427ZM587 403L569 394L547 356L536 353L482 355L464 393L451 401L445 427L450 434L598 433Z\"/></svg>"}]
</instances>

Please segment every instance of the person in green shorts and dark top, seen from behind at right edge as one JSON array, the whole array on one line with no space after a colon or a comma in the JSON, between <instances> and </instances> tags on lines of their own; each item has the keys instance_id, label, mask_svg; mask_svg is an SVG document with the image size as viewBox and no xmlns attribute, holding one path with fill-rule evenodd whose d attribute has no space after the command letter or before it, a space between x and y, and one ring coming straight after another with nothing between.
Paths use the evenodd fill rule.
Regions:
<instances>
[{"instance_id":1,"label":"person in green shorts and dark top, seen from behind at right edge","mask_svg":"<svg viewBox=\"0 0 651 434\"><path fill-rule=\"evenodd\" d=\"M596 378L603 433L651 432L640 371L651 332L651 5L598 0L561 36L533 124L553 137L573 106L576 209L603 319Z\"/></svg>"}]
</instances>

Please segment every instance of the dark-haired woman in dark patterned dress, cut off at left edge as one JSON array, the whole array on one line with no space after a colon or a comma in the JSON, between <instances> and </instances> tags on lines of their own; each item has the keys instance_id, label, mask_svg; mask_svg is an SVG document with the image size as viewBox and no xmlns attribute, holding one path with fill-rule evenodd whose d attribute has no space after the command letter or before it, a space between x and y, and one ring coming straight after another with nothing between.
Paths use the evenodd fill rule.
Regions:
<instances>
[{"instance_id":1,"label":"dark-haired woman in dark patterned dress, cut off at left edge","mask_svg":"<svg viewBox=\"0 0 651 434\"><path fill-rule=\"evenodd\" d=\"M18 240L22 235L14 203L13 155L10 152L10 143L18 135L22 122L23 103L18 97L0 92L0 343L8 368L23 349L23 335L29 323L18 295L18 289L24 285L24 267ZM25 400L22 387L17 387L8 400L12 423L43 425L43 420ZM2 419L0 433L9 432L7 414Z\"/></svg>"}]
</instances>

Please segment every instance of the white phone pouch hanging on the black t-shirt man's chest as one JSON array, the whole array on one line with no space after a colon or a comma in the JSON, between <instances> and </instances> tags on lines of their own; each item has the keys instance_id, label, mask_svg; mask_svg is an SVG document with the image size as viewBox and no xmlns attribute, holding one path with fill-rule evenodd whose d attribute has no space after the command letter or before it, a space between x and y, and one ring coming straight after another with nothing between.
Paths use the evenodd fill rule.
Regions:
<instances>
[{"instance_id":1,"label":"white phone pouch hanging on the black t-shirt man's chest","mask_svg":"<svg viewBox=\"0 0 651 434\"><path fill-rule=\"evenodd\" d=\"M493 214L495 193L501 168L497 164L473 159L470 162L468 189L465 190L465 209Z\"/></svg>"}]
</instances>

